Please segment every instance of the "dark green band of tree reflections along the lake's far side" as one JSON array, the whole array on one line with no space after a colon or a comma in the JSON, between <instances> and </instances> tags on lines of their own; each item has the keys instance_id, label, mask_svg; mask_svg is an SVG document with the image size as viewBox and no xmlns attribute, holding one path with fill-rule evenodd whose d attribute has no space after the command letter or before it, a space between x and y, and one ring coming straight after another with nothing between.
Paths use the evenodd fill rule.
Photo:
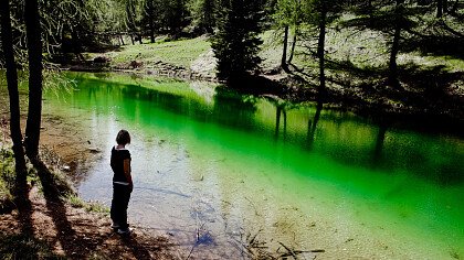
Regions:
<instances>
[{"instance_id":1,"label":"dark green band of tree reflections along the lake's far side","mask_svg":"<svg viewBox=\"0 0 464 260\"><path fill-rule=\"evenodd\" d=\"M371 124L346 112L324 110L321 102L297 106L273 96L263 99L238 95L226 87L217 87L212 102L207 102L193 91L170 93L86 78L78 82L80 90L73 94L74 98L81 99L86 94L86 102L104 113L117 106L124 117L152 121L156 119L150 115L161 109L275 140L282 136L284 142L348 165L408 171L442 185L464 181L462 142L388 131L387 120L378 119L377 126Z\"/></svg>"}]
</instances>

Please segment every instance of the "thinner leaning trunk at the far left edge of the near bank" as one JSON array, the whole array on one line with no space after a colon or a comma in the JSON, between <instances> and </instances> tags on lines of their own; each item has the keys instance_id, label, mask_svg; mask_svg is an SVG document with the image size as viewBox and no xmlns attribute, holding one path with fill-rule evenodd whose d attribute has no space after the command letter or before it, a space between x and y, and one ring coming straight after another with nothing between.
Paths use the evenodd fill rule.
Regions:
<instances>
[{"instance_id":1,"label":"thinner leaning trunk at the far left edge of the near bank","mask_svg":"<svg viewBox=\"0 0 464 260\"><path fill-rule=\"evenodd\" d=\"M25 180L25 160L22 148L21 110L18 93L18 72L14 61L13 41L11 34L10 1L0 1L1 42L7 66L7 83L10 97L10 133L13 141L14 166L19 178Z\"/></svg>"}]
</instances>

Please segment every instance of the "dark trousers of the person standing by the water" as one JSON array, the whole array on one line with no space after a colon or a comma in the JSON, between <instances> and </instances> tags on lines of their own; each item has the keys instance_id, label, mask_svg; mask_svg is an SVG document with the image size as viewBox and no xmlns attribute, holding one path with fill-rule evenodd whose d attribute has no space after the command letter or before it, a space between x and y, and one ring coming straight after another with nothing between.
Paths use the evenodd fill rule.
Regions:
<instances>
[{"instance_id":1,"label":"dark trousers of the person standing by the water","mask_svg":"<svg viewBox=\"0 0 464 260\"><path fill-rule=\"evenodd\" d=\"M110 216L114 224L120 228L127 228L127 206L130 199L130 188L128 185L113 184L113 201Z\"/></svg>"}]
</instances>

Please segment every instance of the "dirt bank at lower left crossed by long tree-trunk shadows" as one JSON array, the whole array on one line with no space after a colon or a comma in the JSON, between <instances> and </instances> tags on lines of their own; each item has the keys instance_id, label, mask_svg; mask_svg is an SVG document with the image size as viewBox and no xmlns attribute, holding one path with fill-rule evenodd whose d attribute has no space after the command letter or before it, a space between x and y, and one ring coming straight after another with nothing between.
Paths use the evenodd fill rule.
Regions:
<instances>
[{"instance_id":1,"label":"dirt bank at lower left crossed by long tree-trunk shadows","mask_svg":"<svg viewBox=\"0 0 464 260\"><path fill-rule=\"evenodd\" d=\"M108 217L67 204L71 192L42 161L34 161L40 185L18 182L17 210L0 215L0 256L9 259L173 259L172 243L136 230L122 237ZM39 191L41 188L41 191ZM41 194L42 193L42 194Z\"/></svg>"}]
</instances>

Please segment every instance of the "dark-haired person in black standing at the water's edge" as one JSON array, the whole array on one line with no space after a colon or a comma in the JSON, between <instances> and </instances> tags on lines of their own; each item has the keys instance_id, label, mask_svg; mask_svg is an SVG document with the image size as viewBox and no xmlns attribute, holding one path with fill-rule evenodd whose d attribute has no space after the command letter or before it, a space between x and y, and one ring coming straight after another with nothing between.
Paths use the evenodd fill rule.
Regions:
<instances>
[{"instance_id":1,"label":"dark-haired person in black standing at the water's edge","mask_svg":"<svg viewBox=\"0 0 464 260\"><path fill-rule=\"evenodd\" d=\"M113 169L113 199L110 216L113 219L112 228L120 235L130 234L127 224L127 206L130 193L134 189L133 177L130 175L130 152L126 144L130 143L130 134L127 130L120 130L116 137L117 145L112 149L110 165Z\"/></svg>"}]
</instances>

